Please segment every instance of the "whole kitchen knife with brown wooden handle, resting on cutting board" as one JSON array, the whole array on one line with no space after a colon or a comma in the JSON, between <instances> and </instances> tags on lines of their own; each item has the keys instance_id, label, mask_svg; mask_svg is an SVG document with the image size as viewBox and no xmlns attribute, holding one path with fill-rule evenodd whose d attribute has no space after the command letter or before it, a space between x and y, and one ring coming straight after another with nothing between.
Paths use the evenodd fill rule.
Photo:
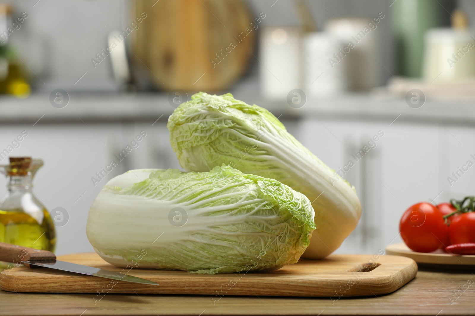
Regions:
<instances>
[{"instance_id":1,"label":"whole kitchen knife with brown wooden handle, resting on cutting board","mask_svg":"<svg viewBox=\"0 0 475 316\"><path fill-rule=\"evenodd\" d=\"M159 285L150 280L137 278L131 275L122 275L113 271L56 260L56 255L52 252L17 246L14 244L0 243L0 261L13 262L16 264L23 263L28 268L44 267L113 280Z\"/></svg>"}]
</instances>

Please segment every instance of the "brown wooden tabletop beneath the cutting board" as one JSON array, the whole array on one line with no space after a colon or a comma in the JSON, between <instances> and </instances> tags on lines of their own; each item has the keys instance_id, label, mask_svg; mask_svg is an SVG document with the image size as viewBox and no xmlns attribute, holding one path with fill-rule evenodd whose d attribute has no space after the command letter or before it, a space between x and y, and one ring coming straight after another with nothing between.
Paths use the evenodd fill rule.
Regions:
<instances>
[{"instance_id":1,"label":"brown wooden tabletop beneath the cutting board","mask_svg":"<svg viewBox=\"0 0 475 316\"><path fill-rule=\"evenodd\" d=\"M0 290L3 315L475 315L475 275L419 267L394 293L367 298L29 294ZM456 294L457 293L457 294Z\"/></svg>"}]
</instances>

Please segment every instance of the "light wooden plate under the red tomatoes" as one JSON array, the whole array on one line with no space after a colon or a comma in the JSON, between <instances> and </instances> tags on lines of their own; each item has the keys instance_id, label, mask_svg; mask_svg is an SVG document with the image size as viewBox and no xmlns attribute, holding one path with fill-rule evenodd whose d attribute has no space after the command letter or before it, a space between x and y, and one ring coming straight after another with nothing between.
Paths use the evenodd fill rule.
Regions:
<instances>
[{"instance_id":1,"label":"light wooden plate under the red tomatoes","mask_svg":"<svg viewBox=\"0 0 475 316\"><path fill-rule=\"evenodd\" d=\"M472 255L453 255L441 249L432 253L417 253L410 250L404 243L387 246L386 254L409 257L417 263L458 266L475 265L475 256Z\"/></svg>"}]
</instances>

